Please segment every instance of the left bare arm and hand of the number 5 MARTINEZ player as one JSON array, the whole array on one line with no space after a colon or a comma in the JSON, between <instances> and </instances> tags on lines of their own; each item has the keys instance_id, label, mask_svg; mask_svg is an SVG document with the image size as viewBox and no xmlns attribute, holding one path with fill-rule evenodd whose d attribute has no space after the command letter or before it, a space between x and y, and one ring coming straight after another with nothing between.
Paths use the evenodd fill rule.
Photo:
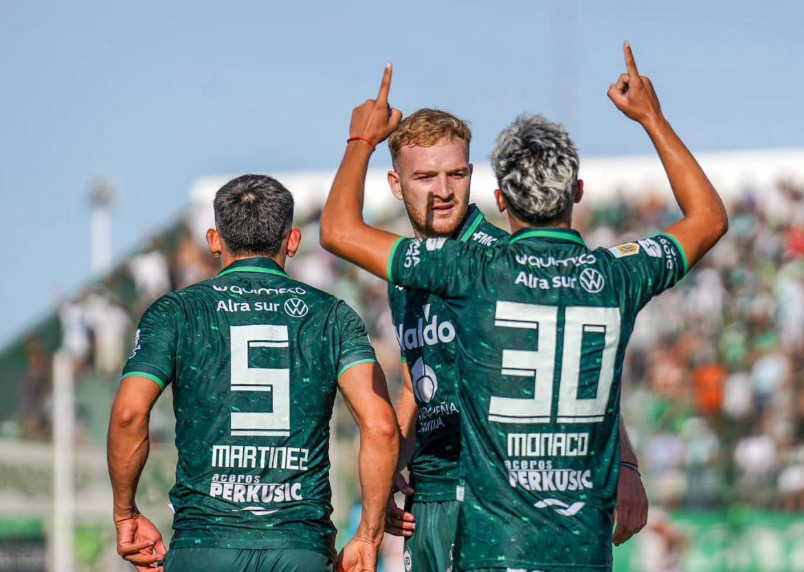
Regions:
<instances>
[{"instance_id":1,"label":"left bare arm and hand of the number 5 MARTINEZ player","mask_svg":"<svg viewBox=\"0 0 804 572\"><path fill-rule=\"evenodd\" d=\"M162 572L167 552L162 534L138 510L134 501L137 483L148 459L148 422L161 388L150 379L125 378L109 419L107 459L112 481L114 525L117 527L117 554L137 570Z\"/></svg>"}]
</instances>

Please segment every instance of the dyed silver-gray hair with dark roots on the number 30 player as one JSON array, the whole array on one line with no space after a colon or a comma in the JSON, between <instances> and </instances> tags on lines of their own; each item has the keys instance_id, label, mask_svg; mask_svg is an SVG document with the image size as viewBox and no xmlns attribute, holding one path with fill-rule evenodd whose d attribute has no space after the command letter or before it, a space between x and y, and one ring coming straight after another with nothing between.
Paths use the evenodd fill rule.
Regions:
<instances>
[{"instance_id":1,"label":"dyed silver-gray hair with dark roots on the number 30 player","mask_svg":"<svg viewBox=\"0 0 804 572\"><path fill-rule=\"evenodd\" d=\"M529 223L553 219L572 202L578 152L560 125L521 115L497 137L491 165L511 210Z\"/></svg>"}]
</instances>

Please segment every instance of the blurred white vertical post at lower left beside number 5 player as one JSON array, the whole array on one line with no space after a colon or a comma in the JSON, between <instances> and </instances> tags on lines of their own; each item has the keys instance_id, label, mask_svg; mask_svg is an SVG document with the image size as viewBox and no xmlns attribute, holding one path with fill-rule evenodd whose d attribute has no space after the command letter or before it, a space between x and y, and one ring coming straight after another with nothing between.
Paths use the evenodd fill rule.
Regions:
<instances>
[{"instance_id":1,"label":"blurred white vertical post at lower left beside number 5 player","mask_svg":"<svg viewBox=\"0 0 804 572\"><path fill-rule=\"evenodd\" d=\"M75 491L75 403L72 356L59 349L53 356L53 572L73 572Z\"/></svg>"}]
</instances>

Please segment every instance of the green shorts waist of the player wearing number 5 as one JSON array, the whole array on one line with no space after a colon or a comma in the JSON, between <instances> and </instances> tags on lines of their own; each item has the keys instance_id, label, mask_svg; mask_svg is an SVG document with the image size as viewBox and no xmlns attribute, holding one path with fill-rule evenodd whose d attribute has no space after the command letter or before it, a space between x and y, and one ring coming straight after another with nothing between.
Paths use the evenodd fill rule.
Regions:
<instances>
[{"instance_id":1,"label":"green shorts waist of the player wearing number 5","mask_svg":"<svg viewBox=\"0 0 804 572\"><path fill-rule=\"evenodd\" d=\"M174 548L165 572L334 572L329 558L313 550L277 548Z\"/></svg>"}]
</instances>

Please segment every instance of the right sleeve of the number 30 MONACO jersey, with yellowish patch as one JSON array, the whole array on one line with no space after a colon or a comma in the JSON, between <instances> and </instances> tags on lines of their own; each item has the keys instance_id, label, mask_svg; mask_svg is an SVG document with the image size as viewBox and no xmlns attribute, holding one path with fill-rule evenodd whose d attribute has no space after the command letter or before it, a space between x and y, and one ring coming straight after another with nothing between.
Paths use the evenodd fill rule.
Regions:
<instances>
[{"instance_id":1,"label":"right sleeve of the number 30 MONACO jersey, with yellowish patch","mask_svg":"<svg viewBox=\"0 0 804 572\"><path fill-rule=\"evenodd\" d=\"M687 274L687 255L672 235L656 235L606 250L621 265L637 309Z\"/></svg>"}]
</instances>

